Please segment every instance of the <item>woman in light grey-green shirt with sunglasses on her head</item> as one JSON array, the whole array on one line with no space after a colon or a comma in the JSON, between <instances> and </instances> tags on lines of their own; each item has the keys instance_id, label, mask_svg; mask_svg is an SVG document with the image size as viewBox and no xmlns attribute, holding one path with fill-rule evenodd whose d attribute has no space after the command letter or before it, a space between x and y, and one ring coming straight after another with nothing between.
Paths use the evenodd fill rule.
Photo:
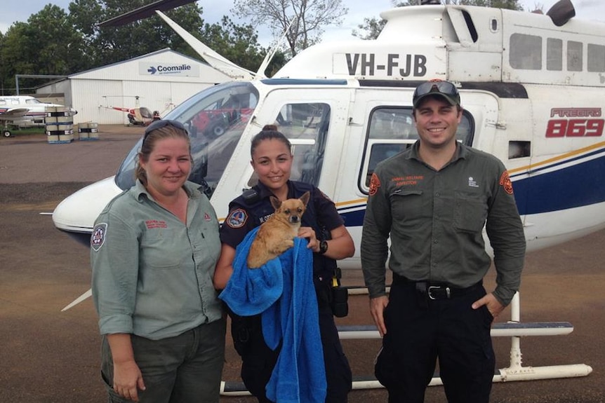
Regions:
<instances>
[{"instance_id":1,"label":"woman in light grey-green shirt with sunglasses on her head","mask_svg":"<svg viewBox=\"0 0 605 403\"><path fill-rule=\"evenodd\" d=\"M190 141L176 121L145 130L135 186L91 238L93 300L110 399L217 402L225 317L213 287L218 220L187 182Z\"/></svg>"}]
</instances>

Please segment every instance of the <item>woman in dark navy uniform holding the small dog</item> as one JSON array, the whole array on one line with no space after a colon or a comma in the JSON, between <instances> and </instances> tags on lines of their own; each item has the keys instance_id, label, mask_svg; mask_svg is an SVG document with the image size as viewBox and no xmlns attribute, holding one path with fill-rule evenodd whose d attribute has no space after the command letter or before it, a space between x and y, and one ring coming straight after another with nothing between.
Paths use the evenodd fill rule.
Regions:
<instances>
[{"instance_id":1,"label":"woman in dark navy uniform holding the small dog","mask_svg":"<svg viewBox=\"0 0 605 403\"><path fill-rule=\"evenodd\" d=\"M314 252L313 280L328 385L326 403L347 402L347 394L352 388L351 369L338 339L330 301L336 260L354 254L353 240L332 200L315 186L290 180L291 144L274 125L265 126L253 137L251 157L258 184L230 203L229 215L220 230L222 247L214 285L217 289L225 288L233 272L237 245L249 231L273 214L270 196L283 201L300 198L310 191L310 202L298 236L307 238L307 247ZM240 317L230 313L230 316L234 346L242 359L241 378L260 403L271 402L265 395L265 385L271 377L279 348L273 351L265 344L260 315Z\"/></svg>"}]
</instances>

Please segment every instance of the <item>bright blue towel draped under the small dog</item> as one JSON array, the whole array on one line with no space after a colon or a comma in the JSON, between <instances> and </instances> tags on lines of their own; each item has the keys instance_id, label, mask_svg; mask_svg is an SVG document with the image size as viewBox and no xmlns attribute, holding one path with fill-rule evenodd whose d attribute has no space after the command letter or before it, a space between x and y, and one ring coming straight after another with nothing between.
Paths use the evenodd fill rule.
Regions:
<instances>
[{"instance_id":1,"label":"bright blue towel draped under the small dog","mask_svg":"<svg viewBox=\"0 0 605 403\"><path fill-rule=\"evenodd\" d=\"M260 268L248 269L248 250L258 227L239 244L233 273L219 298L241 316L262 313L262 335L275 350L277 363L265 388L277 403L323 403L326 399L324 350L319 333L313 256L307 240Z\"/></svg>"}]
</instances>

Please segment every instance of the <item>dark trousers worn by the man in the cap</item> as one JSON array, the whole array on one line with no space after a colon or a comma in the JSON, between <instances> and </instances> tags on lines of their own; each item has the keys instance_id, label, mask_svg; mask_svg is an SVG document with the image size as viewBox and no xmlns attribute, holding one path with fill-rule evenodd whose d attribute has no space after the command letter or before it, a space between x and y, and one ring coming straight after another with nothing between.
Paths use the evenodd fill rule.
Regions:
<instances>
[{"instance_id":1,"label":"dark trousers worn by the man in the cap","mask_svg":"<svg viewBox=\"0 0 605 403\"><path fill-rule=\"evenodd\" d=\"M422 403L439 360L439 376L449 403L488 403L496 360L486 306L471 305L484 287L428 299L414 282L393 284L384 318L387 333L375 375L389 392L389 403Z\"/></svg>"}]
</instances>

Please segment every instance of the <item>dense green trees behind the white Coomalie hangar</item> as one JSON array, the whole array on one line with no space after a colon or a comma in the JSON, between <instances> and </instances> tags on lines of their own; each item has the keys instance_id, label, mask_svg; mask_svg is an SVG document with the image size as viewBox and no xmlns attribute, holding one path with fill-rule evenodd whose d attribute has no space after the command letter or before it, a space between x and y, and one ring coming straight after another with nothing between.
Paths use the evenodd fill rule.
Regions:
<instances>
[{"instance_id":1,"label":"dense green trees behind the white Coomalie hangar","mask_svg":"<svg viewBox=\"0 0 605 403\"><path fill-rule=\"evenodd\" d=\"M116 17L152 0L73 0L69 14L49 4L27 22L16 22L0 34L0 90L13 93L15 74L69 75L78 71L121 62L147 53L171 48L200 58L178 34L157 15L122 27L100 28L98 23ZM181 27L233 62L255 71L267 50L258 43L251 25L237 25L230 18L215 24L204 22L202 9L188 4L166 12ZM277 53L267 73L285 63ZM40 81L20 80L20 88Z\"/></svg>"}]
</instances>

